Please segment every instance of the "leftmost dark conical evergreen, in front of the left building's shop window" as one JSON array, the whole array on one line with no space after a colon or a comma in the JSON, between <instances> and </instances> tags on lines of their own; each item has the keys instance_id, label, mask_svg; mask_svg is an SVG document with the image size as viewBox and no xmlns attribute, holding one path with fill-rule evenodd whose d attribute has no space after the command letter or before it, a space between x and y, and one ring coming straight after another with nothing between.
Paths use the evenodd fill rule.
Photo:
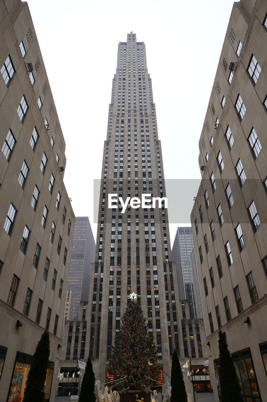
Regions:
<instances>
[{"instance_id":1,"label":"leftmost dark conical evergreen, in front of the left building's shop window","mask_svg":"<svg viewBox=\"0 0 267 402\"><path fill-rule=\"evenodd\" d=\"M49 333L44 331L32 357L32 364L26 381L23 402L44 401L44 381L47 377L49 355Z\"/></svg>"}]
</instances>

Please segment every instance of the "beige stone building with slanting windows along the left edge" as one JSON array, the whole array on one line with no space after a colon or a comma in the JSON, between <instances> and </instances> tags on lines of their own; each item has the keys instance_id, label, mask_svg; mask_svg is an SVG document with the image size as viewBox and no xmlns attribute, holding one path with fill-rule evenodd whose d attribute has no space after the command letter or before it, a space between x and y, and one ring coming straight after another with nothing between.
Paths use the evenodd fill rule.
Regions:
<instances>
[{"instance_id":1,"label":"beige stone building with slanting windows along the left edge","mask_svg":"<svg viewBox=\"0 0 267 402\"><path fill-rule=\"evenodd\" d=\"M21 400L45 329L55 395L75 217L65 141L26 2L0 0L0 399Z\"/></svg>"}]
</instances>

